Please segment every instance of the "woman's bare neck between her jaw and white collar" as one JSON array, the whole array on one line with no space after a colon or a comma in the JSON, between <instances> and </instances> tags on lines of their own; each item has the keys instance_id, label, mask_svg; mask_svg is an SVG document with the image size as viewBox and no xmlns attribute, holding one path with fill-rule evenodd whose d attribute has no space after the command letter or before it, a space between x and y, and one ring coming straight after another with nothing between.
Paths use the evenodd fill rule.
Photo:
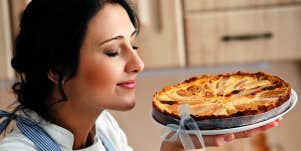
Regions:
<instances>
[{"instance_id":1,"label":"woman's bare neck between her jaw and white collar","mask_svg":"<svg viewBox=\"0 0 301 151\"><path fill-rule=\"evenodd\" d=\"M76 105L66 101L53 107L54 123L71 131L74 136L73 149L82 149L90 146L95 137L95 121L101 111L83 109L82 105Z\"/></svg>"}]
</instances>

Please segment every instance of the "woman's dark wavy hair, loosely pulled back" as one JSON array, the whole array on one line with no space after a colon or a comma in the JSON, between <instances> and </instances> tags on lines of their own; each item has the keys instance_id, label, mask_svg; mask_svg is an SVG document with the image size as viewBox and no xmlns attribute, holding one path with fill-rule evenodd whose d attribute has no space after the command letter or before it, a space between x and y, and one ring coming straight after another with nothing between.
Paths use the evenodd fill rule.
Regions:
<instances>
[{"instance_id":1,"label":"woman's dark wavy hair, loosely pulled back","mask_svg":"<svg viewBox=\"0 0 301 151\"><path fill-rule=\"evenodd\" d=\"M121 5L139 30L132 4L126 0L32 0L20 22L11 65L20 81L13 85L19 106L16 110L31 109L50 120L50 95L54 87L66 101L63 80L70 80L79 64L79 50L91 18L105 3ZM55 85L49 71L58 75Z\"/></svg>"}]
</instances>

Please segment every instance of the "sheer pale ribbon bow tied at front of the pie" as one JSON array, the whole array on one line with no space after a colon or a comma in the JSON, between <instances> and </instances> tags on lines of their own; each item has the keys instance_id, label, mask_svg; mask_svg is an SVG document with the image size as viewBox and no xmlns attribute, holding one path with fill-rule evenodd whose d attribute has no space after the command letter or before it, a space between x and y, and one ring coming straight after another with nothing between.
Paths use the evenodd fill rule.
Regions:
<instances>
[{"instance_id":1,"label":"sheer pale ribbon bow tied at front of the pie","mask_svg":"<svg viewBox=\"0 0 301 151\"><path fill-rule=\"evenodd\" d=\"M200 144L202 145L203 150L206 151L201 131L195 120L189 114L189 105L180 105L179 112L181 116L179 125L166 125L161 133L161 139L163 141L174 142L178 138L180 138L185 151L187 151L195 149L195 145L193 144L192 139L189 135L196 135Z\"/></svg>"}]
</instances>

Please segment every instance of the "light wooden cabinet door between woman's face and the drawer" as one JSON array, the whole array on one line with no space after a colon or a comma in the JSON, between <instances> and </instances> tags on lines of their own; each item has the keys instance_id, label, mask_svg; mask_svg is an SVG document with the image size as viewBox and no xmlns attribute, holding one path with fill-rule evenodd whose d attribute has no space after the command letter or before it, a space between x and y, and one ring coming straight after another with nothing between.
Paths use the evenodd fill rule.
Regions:
<instances>
[{"instance_id":1,"label":"light wooden cabinet door between woman's face and the drawer","mask_svg":"<svg viewBox=\"0 0 301 151\"><path fill-rule=\"evenodd\" d=\"M139 55L145 67L185 65L181 0L135 0L141 31Z\"/></svg>"}]
</instances>

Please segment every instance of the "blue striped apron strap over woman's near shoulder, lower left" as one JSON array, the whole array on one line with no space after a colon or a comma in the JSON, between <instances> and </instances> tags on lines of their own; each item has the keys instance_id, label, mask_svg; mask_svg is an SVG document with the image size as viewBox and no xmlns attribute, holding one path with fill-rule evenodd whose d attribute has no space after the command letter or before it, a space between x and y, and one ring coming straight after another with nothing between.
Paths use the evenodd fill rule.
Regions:
<instances>
[{"instance_id":1,"label":"blue striped apron strap over woman's near shoulder, lower left","mask_svg":"<svg viewBox=\"0 0 301 151\"><path fill-rule=\"evenodd\" d=\"M0 134L6 129L10 121L16 120L17 127L23 135L31 140L41 151L62 151L59 145L36 122L0 110L0 119L3 117L7 118L0 124Z\"/></svg>"}]
</instances>

